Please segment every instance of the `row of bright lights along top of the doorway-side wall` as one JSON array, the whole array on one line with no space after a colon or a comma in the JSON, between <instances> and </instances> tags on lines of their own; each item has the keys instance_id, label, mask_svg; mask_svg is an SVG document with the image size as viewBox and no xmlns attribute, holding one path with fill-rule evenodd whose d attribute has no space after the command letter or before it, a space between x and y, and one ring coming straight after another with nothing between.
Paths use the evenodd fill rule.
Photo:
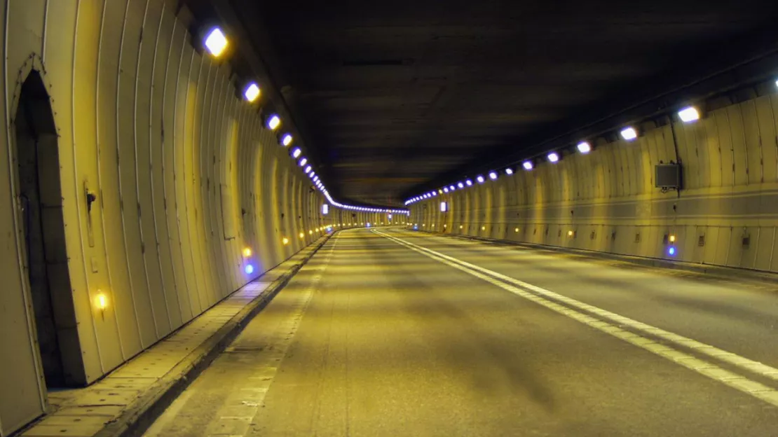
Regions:
<instances>
[{"instance_id":1,"label":"row of bright lights along top of the doorway-side wall","mask_svg":"<svg viewBox=\"0 0 778 437\"><path fill-rule=\"evenodd\" d=\"M230 45L230 42L227 40L227 37L223 33L219 27L214 27L205 37L205 47L208 49L209 53L212 54L214 58L219 58L223 54L226 53L226 48ZM249 103L254 103L259 99L259 96L261 95L261 89L258 86L257 82L249 82L247 86L244 88L244 99ZM265 126L270 129L271 131L276 131L282 124L281 117L279 117L278 114L270 114L265 119ZM283 134L279 140L280 144L284 147L289 147L292 145L294 141L294 137L289 132ZM327 198L327 200L330 202L331 205L335 205L338 208L343 209L349 209L352 211L359 211L359 212L385 212L385 213L396 213L396 214L405 214L408 215L410 212L405 209L389 209L389 208L369 208L369 207L363 207L363 206L356 206L356 205L345 205L340 202L335 201L329 194L327 187L324 186L324 183L321 182L321 179L317 176L316 172L314 171L314 167L308 163L308 159L305 156L301 156L303 154L303 150L300 149L300 147L296 147L292 150L291 155L294 159L297 160L297 163L300 167L303 168L303 171L305 174L310 177L311 181L314 183L314 185L317 187L319 191L321 191L324 196Z\"/></svg>"}]
</instances>

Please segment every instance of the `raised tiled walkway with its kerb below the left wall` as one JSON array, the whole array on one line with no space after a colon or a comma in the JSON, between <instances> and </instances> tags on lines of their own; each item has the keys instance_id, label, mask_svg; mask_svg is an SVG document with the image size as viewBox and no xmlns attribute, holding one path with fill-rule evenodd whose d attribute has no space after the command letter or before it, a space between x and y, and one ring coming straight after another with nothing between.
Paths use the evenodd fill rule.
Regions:
<instances>
[{"instance_id":1,"label":"raised tiled walkway with its kerb below the left wall","mask_svg":"<svg viewBox=\"0 0 778 437\"><path fill-rule=\"evenodd\" d=\"M135 435L149 425L327 242L323 236L90 386L49 393L25 437Z\"/></svg>"}]
</instances>

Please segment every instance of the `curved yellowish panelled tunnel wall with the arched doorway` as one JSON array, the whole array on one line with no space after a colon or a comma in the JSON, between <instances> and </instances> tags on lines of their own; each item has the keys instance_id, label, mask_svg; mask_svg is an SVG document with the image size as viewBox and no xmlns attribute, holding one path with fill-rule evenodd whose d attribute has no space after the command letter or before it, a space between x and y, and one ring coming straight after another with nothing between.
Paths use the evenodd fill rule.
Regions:
<instances>
[{"instance_id":1,"label":"curved yellowish panelled tunnel wall with the arched doorway","mask_svg":"<svg viewBox=\"0 0 778 437\"><path fill-rule=\"evenodd\" d=\"M5 3L0 435L47 407L13 119L33 69L58 133L61 205L48 207L61 208L64 229L49 224L47 244L64 245L67 259L47 271L48 281L70 283L51 298L71 383L115 369L328 225L380 218L337 208L321 215L324 198L262 128L258 108L237 98L229 65L195 51L190 14L177 3ZM87 191L96 195L90 211Z\"/></svg>"}]
</instances>

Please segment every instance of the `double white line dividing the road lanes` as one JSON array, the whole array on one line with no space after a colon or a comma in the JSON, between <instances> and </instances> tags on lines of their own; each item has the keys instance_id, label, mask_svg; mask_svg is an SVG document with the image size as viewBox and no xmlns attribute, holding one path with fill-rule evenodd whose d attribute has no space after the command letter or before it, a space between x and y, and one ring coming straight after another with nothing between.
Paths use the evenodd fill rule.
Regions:
<instances>
[{"instance_id":1,"label":"double white line dividing the road lanes","mask_svg":"<svg viewBox=\"0 0 778 437\"><path fill-rule=\"evenodd\" d=\"M672 334L665 330L661 330L657 327L651 327L650 325L647 325L645 323L640 323L637 322L636 320L632 320L624 316L619 316L618 314L615 313L610 313L608 311L605 311L605 309L599 309L595 306L585 304L584 302L579 302L575 299L570 299L566 296L559 295L555 292L549 292L544 288L536 287L534 285L527 284L526 282L509 278L503 274L499 274L495 271L490 271L489 269L485 269L483 267L475 266L473 264L470 264L462 260L457 260L454 257L449 257L447 255L444 255L443 253L438 253L434 250L429 250L426 247L418 246L414 243L408 243L404 239L399 239L397 237L390 236L376 230L373 230L372 232L375 232L380 236L384 236L387 239L391 239L395 243L401 244L402 246L406 246L408 247L408 249L422 253L427 257L433 258L434 260L440 261L443 264L447 264L458 270L464 271L465 273L471 274L476 278L480 278L484 281L487 281L492 285L496 285L500 288L503 288L509 292L512 292L515 295L519 295L524 299L538 303L539 305L545 306L548 309L552 309L556 313L560 313L564 316L568 316L573 320L577 320L580 323L584 323L587 326L593 327L594 329L600 330L601 332L605 332L605 334L609 334L612 335L613 337L620 338L623 341L627 341L630 344L634 344L639 348L643 348L663 358L667 358L671 362L675 362L678 365L682 365L687 369L691 369L695 372L698 372L701 375L709 377L710 379L714 379L720 383L723 383L727 386L731 386L732 388L736 390L740 390L743 393L748 393L753 397L756 397L760 400L767 402L768 404L772 404L773 406L778 407L778 390L774 390L773 388L766 386L762 383L758 383L751 379L745 378L745 376L741 376L738 375L737 373L730 372L729 370L722 369L721 367L713 363L703 361L685 352L678 351L674 348L671 348L670 346L667 346L665 344L657 343L657 341L651 340L650 338L641 337L639 334L635 334L628 330L623 330L622 328L615 326L612 323L599 320L585 313L580 313L579 311L576 311L575 309L571 309L567 306L562 306L559 303L554 302L552 299L560 300L570 306L576 306L581 309L586 309L587 311L590 311L591 313L596 313L598 314L598 316L602 316L604 318L607 318L608 320L612 320L616 323L621 323L622 325L633 327L634 329L643 331L647 334L656 335L657 337L661 337L675 344L694 348L696 351L700 351L700 348L712 348L716 351L721 351L725 355L710 355L710 354L707 355L710 355L713 358L723 359L726 362L737 365L741 369L747 369L748 371L756 372L760 374L763 374L760 371L766 371L766 369L772 369L772 372L778 372L778 369L774 369L772 367L769 367L768 365L763 365L762 363L759 362L754 362L752 360L749 360L748 358L740 357L739 355L732 354L731 352L722 351L720 349L713 348L713 346L708 346L706 344L699 343L699 341L694 341L689 338L682 337L677 334ZM518 288L516 286L506 284L506 282L517 284L522 288ZM529 292L527 291L527 289L523 289L523 288L527 288L532 292ZM668 334L668 335L664 336L663 334ZM696 344L699 344L700 346L697 347ZM705 354L706 351L701 351L701 353ZM746 364L738 364L738 363L746 363ZM754 369L752 369L752 364L757 366L755 366ZM764 373L764 375L773 377L772 373Z\"/></svg>"}]
</instances>

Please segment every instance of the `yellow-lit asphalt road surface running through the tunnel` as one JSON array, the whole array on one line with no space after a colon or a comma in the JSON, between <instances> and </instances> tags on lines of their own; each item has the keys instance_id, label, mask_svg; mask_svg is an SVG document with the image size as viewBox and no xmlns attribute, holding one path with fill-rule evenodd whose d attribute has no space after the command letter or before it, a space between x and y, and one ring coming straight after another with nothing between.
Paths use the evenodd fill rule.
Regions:
<instances>
[{"instance_id":1,"label":"yellow-lit asphalt road surface running through the tunnel","mask_svg":"<svg viewBox=\"0 0 778 437\"><path fill-rule=\"evenodd\" d=\"M562 274L549 267L555 261L562 270L582 265ZM623 286L644 275L692 302L718 290L537 250L398 229L338 232L147 435L772 435L778 408L764 393L778 383L766 368L668 348L656 330L635 334L626 317L757 356L717 341L715 326L707 327L711 341L622 311L631 302L650 313L641 299L654 298ZM609 277L623 283L620 295L604 286ZM532 291L527 285L568 301L555 303L560 312L506 289ZM762 299L769 313L775 296L742 292L747 303ZM564 313L569 299L625 318L576 319ZM733 308L734 326L746 329L747 317ZM686 358L674 351L712 365L698 368L715 368L723 379L680 365L673 358Z\"/></svg>"}]
</instances>

